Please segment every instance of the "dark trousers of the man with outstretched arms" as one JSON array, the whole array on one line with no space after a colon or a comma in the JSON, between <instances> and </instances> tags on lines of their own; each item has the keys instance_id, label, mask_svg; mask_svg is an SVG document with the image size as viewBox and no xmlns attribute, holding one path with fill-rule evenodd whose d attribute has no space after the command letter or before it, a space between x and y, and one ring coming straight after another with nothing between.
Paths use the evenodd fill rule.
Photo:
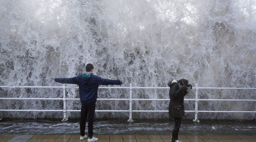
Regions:
<instances>
[{"instance_id":1,"label":"dark trousers of the man with outstretched arms","mask_svg":"<svg viewBox=\"0 0 256 142\"><path fill-rule=\"evenodd\" d=\"M95 113L95 104L92 106L84 106L82 104L81 107L81 119L80 119L80 134L82 136L85 135L85 124L88 115L88 137L93 137L93 121L94 121L94 113Z\"/></svg>"}]
</instances>

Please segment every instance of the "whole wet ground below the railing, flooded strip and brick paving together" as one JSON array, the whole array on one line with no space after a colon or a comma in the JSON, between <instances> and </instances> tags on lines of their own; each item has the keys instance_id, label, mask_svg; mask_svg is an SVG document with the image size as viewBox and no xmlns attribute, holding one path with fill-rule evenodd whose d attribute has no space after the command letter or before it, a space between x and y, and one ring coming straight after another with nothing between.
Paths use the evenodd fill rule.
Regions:
<instances>
[{"instance_id":1,"label":"whole wet ground below the railing, flooded strip and brick paving together","mask_svg":"<svg viewBox=\"0 0 256 142\"><path fill-rule=\"evenodd\" d=\"M95 120L94 137L99 138L98 142L171 142L173 126L172 120ZM79 140L79 136L79 119L0 121L0 142L87 141ZM182 142L256 142L256 121L182 120L179 139Z\"/></svg>"}]
</instances>

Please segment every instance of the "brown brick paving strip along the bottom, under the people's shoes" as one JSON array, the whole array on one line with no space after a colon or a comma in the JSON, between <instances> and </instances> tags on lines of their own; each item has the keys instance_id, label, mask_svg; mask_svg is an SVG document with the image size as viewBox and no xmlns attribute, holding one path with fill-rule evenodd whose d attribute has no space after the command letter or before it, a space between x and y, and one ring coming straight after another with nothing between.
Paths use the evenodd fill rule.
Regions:
<instances>
[{"instance_id":1,"label":"brown brick paving strip along the bottom, under the people's shoes","mask_svg":"<svg viewBox=\"0 0 256 142\"><path fill-rule=\"evenodd\" d=\"M0 135L0 142L87 142L80 135ZM97 142L171 142L171 135L94 135ZM256 135L179 135L181 142L256 142Z\"/></svg>"}]
</instances>

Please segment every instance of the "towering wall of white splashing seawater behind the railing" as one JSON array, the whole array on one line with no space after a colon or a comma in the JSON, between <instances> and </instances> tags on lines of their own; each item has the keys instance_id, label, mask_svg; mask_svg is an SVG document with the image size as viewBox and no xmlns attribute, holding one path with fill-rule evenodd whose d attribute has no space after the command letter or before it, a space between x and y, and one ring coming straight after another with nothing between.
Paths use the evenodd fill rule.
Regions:
<instances>
[{"instance_id":1,"label":"towering wall of white splashing seawater behind the railing","mask_svg":"<svg viewBox=\"0 0 256 142\"><path fill-rule=\"evenodd\" d=\"M27 0L0 2L0 85L61 86L53 78L85 72L123 86L166 87L188 79L203 87L255 87L255 0ZM71 85L74 86L74 85ZM59 89L0 88L1 97L62 97ZM255 91L200 90L199 98L256 99ZM75 88L67 97L77 98ZM168 90L134 90L135 98L169 98ZM128 98L99 90L98 98ZM194 98L194 92L186 98ZM1 109L63 109L58 100L0 100ZM167 110L168 101L135 101L134 110ZM96 109L128 110L126 101ZM67 109L80 109L68 101ZM193 102L185 102L193 110ZM252 102L199 102L199 110L255 111ZM61 118L56 112L0 112L1 117ZM79 113L68 113L78 118ZM128 118L128 113L96 113ZM134 113L134 118L168 118ZM192 119L193 113L186 114ZM199 113L201 119L255 119L255 114Z\"/></svg>"}]
</instances>

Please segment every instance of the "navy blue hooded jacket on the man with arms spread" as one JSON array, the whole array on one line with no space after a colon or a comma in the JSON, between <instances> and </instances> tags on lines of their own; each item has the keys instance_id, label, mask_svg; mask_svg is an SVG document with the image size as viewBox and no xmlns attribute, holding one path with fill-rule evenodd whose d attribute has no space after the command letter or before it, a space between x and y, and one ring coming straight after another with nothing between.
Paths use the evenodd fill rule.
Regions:
<instances>
[{"instance_id":1,"label":"navy blue hooded jacket on the man with arms spread","mask_svg":"<svg viewBox=\"0 0 256 142\"><path fill-rule=\"evenodd\" d=\"M82 105L91 106L96 103L99 85L121 85L120 80L103 79L92 73L84 73L73 78L55 78L56 82L77 84Z\"/></svg>"}]
</instances>

